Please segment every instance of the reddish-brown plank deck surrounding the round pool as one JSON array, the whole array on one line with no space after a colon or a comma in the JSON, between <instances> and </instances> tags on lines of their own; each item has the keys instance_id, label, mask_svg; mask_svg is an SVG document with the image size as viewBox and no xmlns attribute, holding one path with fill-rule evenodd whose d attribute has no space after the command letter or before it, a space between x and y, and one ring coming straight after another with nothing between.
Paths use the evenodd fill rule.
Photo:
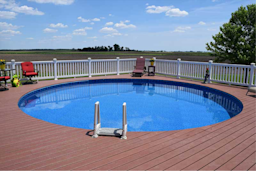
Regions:
<instances>
[{"instance_id":1,"label":"reddish-brown plank deck surrounding the round pool","mask_svg":"<svg viewBox=\"0 0 256 171\"><path fill-rule=\"evenodd\" d=\"M17 106L24 94L63 82L129 75L40 81L0 92L1 170L256 170L256 96L245 87L205 86L228 92L243 111L211 126L164 132L128 132L128 140L91 138L91 130L51 124L23 113ZM143 77L149 78L149 77ZM166 77L200 84L196 81Z\"/></svg>"}]
</instances>

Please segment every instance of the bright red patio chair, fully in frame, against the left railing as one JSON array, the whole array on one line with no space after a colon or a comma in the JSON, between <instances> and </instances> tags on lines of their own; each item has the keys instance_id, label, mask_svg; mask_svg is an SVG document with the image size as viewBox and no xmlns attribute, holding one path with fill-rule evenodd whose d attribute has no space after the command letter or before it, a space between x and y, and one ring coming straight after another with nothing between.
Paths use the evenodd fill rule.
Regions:
<instances>
[{"instance_id":1,"label":"bright red patio chair, fully in frame, against the left railing","mask_svg":"<svg viewBox=\"0 0 256 171\"><path fill-rule=\"evenodd\" d=\"M23 63L21 63L21 68L22 68L22 75L29 78L29 80L27 82L37 83L36 81L32 81L32 79L31 79L32 77L37 76L39 73L39 71L37 71L37 72L35 71L33 63L23 62Z\"/></svg>"}]
</instances>

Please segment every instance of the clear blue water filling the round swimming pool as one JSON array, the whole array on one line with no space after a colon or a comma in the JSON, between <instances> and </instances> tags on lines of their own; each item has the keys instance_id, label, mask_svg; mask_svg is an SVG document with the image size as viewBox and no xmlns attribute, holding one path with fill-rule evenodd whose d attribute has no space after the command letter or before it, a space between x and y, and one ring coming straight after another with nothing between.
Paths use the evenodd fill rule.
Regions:
<instances>
[{"instance_id":1,"label":"clear blue water filling the round swimming pool","mask_svg":"<svg viewBox=\"0 0 256 171\"><path fill-rule=\"evenodd\" d=\"M26 114L59 125L93 129L94 104L100 102L102 127L122 127L127 104L128 131L167 131L225 121L242 103L219 90L161 80L105 79L45 87L23 96Z\"/></svg>"}]
</instances>

